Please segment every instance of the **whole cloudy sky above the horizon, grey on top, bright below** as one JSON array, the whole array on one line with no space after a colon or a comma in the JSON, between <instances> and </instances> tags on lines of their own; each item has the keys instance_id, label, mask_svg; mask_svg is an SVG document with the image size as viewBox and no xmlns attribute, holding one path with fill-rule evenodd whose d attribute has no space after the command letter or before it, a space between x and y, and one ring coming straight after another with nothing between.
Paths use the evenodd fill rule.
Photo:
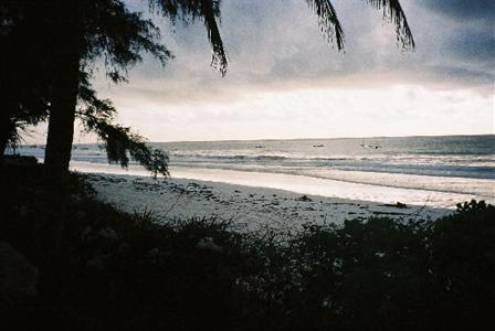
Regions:
<instances>
[{"instance_id":1,"label":"whole cloudy sky above the horizon, grey on top, bright below","mask_svg":"<svg viewBox=\"0 0 495 331\"><path fill-rule=\"evenodd\" d=\"M401 0L413 52L366 1L331 2L345 52L304 0L223 0L225 77L201 21L158 19L175 58L164 68L145 55L128 84L94 85L151 141L494 134L495 1Z\"/></svg>"}]
</instances>

